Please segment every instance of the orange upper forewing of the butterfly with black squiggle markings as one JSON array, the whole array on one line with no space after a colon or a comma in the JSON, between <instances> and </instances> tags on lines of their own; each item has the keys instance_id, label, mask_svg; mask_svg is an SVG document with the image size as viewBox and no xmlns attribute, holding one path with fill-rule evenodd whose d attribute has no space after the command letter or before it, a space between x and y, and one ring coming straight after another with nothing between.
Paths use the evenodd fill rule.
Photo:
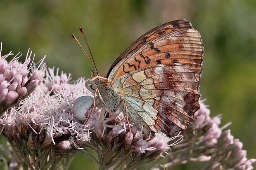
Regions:
<instances>
[{"instance_id":1,"label":"orange upper forewing of the butterfly with black squiggle markings","mask_svg":"<svg viewBox=\"0 0 256 170\"><path fill-rule=\"evenodd\" d=\"M197 30L186 20L165 23L138 38L111 66L107 78L157 64L183 63L199 81L203 43Z\"/></svg>"}]
</instances>

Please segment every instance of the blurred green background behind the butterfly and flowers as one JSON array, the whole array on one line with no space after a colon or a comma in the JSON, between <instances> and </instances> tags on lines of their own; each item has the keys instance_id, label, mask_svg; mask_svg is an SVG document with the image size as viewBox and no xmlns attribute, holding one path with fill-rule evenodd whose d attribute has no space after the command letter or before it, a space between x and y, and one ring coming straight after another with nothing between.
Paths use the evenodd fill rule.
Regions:
<instances>
[{"instance_id":1,"label":"blurred green background behind the butterfly and flowers","mask_svg":"<svg viewBox=\"0 0 256 170\"><path fill-rule=\"evenodd\" d=\"M200 86L211 115L239 138L248 158L256 158L256 1L255 0L26 0L0 1L2 54L13 51L36 61L47 56L73 79L90 76L92 66L72 39L86 48L83 27L95 63L106 74L131 43L148 30L175 19L187 19L201 33L204 64ZM196 169L189 165L180 169ZM80 154L70 170L97 169ZM86 167L86 168L85 168Z\"/></svg>"}]
</instances>

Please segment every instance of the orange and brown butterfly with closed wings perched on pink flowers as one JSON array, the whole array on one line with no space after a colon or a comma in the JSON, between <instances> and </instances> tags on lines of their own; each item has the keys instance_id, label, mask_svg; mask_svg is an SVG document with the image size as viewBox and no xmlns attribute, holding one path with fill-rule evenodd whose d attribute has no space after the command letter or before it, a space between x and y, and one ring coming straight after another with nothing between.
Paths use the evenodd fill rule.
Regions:
<instances>
[{"instance_id":1,"label":"orange and brown butterfly with closed wings perched on pink flowers","mask_svg":"<svg viewBox=\"0 0 256 170\"><path fill-rule=\"evenodd\" d=\"M171 21L139 37L107 75L92 72L86 84L111 112L121 107L143 133L172 136L199 109L203 53L201 36L191 23Z\"/></svg>"}]
</instances>

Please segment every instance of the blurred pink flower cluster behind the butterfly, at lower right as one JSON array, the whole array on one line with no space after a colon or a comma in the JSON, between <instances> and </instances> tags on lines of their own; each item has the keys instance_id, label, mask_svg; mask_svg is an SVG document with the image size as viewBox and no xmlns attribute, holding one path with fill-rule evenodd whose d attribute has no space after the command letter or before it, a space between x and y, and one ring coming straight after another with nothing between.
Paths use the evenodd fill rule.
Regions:
<instances>
[{"instance_id":1,"label":"blurred pink flower cluster behind the butterfly, at lower right","mask_svg":"<svg viewBox=\"0 0 256 170\"><path fill-rule=\"evenodd\" d=\"M230 135L230 130L222 131L220 115L211 118L210 110L202 101L200 106L194 121L181 133L184 140L165 156L168 162L164 167L171 168L187 161L207 161L204 170L251 170L256 159L246 158L242 143Z\"/></svg>"}]
</instances>

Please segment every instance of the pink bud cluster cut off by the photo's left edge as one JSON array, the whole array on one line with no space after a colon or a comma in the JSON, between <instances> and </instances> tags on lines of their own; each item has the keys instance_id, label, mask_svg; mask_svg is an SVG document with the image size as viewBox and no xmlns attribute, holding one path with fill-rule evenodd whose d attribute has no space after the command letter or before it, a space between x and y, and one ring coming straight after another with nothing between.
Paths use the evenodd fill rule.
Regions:
<instances>
[{"instance_id":1,"label":"pink bud cluster cut off by the photo's left edge","mask_svg":"<svg viewBox=\"0 0 256 170\"><path fill-rule=\"evenodd\" d=\"M0 54L1 52L2 43ZM18 59L21 56L19 54L9 62L6 58L13 55L11 52L0 56L0 116L10 107L18 105L42 82L46 68L43 63L44 58L36 67L31 64L31 54L32 51L28 51L24 63L19 63Z\"/></svg>"}]
</instances>

